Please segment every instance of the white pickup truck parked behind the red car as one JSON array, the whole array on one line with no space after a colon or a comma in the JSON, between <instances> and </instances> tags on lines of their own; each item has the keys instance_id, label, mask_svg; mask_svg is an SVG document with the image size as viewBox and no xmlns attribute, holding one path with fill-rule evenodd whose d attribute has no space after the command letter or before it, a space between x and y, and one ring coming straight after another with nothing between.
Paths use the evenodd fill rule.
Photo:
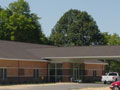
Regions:
<instances>
[{"instance_id":1,"label":"white pickup truck parked behind the red car","mask_svg":"<svg viewBox=\"0 0 120 90\"><path fill-rule=\"evenodd\" d=\"M112 83L115 81L119 81L120 80L120 76L117 72L109 72L106 75L102 76L102 82L104 82L104 84L106 83Z\"/></svg>"}]
</instances>

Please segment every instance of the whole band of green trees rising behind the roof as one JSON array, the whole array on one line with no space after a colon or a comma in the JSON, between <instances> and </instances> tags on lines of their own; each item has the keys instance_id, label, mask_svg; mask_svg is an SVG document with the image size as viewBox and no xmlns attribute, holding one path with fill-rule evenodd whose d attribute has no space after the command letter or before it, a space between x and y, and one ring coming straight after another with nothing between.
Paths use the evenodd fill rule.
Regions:
<instances>
[{"instance_id":1,"label":"whole band of green trees rising behind the roof","mask_svg":"<svg viewBox=\"0 0 120 90\"><path fill-rule=\"evenodd\" d=\"M5 9L0 6L0 39L57 46L120 45L118 34L101 33L85 11L67 11L52 29L49 40L39 19L25 0L10 3Z\"/></svg>"}]
</instances>

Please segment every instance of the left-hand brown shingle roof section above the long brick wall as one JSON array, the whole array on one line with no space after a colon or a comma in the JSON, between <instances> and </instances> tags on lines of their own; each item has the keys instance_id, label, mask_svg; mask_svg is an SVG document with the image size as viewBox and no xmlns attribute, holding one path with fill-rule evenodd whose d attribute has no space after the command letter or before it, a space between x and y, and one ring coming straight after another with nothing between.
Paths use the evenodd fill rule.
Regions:
<instances>
[{"instance_id":1,"label":"left-hand brown shingle roof section above the long brick wall","mask_svg":"<svg viewBox=\"0 0 120 90\"><path fill-rule=\"evenodd\" d=\"M40 55L35 56L27 50L51 47L53 46L0 40L0 58L40 60Z\"/></svg>"}]
</instances>

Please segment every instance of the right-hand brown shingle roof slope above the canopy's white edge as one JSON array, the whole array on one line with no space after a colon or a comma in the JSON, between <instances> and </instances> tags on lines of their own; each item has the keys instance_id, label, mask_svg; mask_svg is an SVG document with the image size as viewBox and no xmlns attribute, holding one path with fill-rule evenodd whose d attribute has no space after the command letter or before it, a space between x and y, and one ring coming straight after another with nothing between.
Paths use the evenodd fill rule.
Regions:
<instances>
[{"instance_id":1,"label":"right-hand brown shingle roof slope above the canopy's white edge","mask_svg":"<svg viewBox=\"0 0 120 90\"><path fill-rule=\"evenodd\" d=\"M42 57L120 56L120 46L81 46L29 49Z\"/></svg>"}]
</instances>

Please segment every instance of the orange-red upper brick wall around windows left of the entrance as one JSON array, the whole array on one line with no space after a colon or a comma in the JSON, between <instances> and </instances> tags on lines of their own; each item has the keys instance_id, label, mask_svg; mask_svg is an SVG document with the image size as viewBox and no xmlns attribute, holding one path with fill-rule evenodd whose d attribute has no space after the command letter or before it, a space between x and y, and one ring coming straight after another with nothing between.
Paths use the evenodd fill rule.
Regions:
<instances>
[{"instance_id":1,"label":"orange-red upper brick wall around windows left of the entrance","mask_svg":"<svg viewBox=\"0 0 120 90\"><path fill-rule=\"evenodd\" d=\"M24 76L33 77L34 69L38 68L42 76L47 75L47 62L0 60L0 68L7 68L7 77L18 77L18 68L24 69Z\"/></svg>"}]
</instances>

